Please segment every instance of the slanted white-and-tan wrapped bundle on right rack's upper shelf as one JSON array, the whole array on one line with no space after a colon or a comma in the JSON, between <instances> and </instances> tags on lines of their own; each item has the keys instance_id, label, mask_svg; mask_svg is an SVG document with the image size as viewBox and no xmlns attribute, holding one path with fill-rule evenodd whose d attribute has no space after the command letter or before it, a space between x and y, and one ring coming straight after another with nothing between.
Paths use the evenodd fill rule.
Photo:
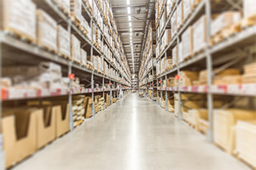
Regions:
<instances>
[{"instance_id":1,"label":"slanted white-and-tan wrapped bundle on right rack's upper shelf","mask_svg":"<svg viewBox=\"0 0 256 170\"><path fill-rule=\"evenodd\" d=\"M241 20L241 13L236 11L224 12L212 21L211 35L215 35L218 31L221 31L226 26L230 26L233 23Z\"/></svg>"}]
</instances>

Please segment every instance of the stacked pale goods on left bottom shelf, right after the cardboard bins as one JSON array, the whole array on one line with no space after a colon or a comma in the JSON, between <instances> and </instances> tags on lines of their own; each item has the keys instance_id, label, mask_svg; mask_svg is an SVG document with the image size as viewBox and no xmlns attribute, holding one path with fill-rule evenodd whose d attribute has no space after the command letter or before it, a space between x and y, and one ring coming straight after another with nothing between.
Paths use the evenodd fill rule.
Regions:
<instances>
[{"instance_id":1,"label":"stacked pale goods on left bottom shelf, right after the cardboard bins","mask_svg":"<svg viewBox=\"0 0 256 170\"><path fill-rule=\"evenodd\" d=\"M79 126L84 122L85 104L84 95L73 96L72 111L73 111L73 127Z\"/></svg>"}]
</instances>

